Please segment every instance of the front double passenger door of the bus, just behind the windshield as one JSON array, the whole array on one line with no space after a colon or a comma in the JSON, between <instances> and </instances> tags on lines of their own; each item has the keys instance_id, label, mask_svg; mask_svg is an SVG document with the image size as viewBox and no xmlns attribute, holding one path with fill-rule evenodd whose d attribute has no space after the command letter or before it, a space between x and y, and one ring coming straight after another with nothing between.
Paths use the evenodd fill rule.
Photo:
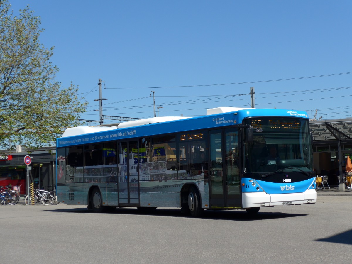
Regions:
<instances>
[{"instance_id":1,"label":"front double passenger door of the bus, just behind the windshield","mask_svg":"<svg viewBox=\"0 0 352 264\"><path fill-rule=\"evenodd\" d=\"M210 132L210 204L212 208L241 208L237 168L238 132Z\"/></svg>"}]
</instances>

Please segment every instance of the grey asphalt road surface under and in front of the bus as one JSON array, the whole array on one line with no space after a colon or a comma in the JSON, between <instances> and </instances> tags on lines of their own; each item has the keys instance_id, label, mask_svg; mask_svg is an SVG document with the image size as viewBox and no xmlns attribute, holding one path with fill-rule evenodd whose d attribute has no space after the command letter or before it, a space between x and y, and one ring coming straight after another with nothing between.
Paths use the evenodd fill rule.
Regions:
<instances>
[{"instance_id":1,"label":"grey asphalt road surface under and in front of the bus","mask_svg":"<svg viewBox=\"0 0 352 264\"><path fill-rule=\"evenodd\" d=\"M0 206L0 263L350 263L352 196L245 211Z\"/></svg>"}]
</instances>

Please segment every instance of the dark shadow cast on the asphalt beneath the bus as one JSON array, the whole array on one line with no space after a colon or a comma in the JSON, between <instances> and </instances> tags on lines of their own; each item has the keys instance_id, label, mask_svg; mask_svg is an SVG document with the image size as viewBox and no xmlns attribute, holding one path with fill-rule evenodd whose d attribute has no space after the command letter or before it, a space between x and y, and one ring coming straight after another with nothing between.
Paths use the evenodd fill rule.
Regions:
<instances>
[{"instance_id":1,"label":"dark shadow cast on the asphalt beneath the bus","mask_svg":"<svg viewBox=\"0 0 352 264\"><path fill-rule=\"evenodd\" d=\"M62 213L92 213L93 210L87 208L69 208L69 209L57 209L48 210L50 212L62 212ZM181 209L166 209L157 208L149 212L142 212L137 208L116 208L111 212L105 212L102 214L128 214L128 215L146 215L146 216L167 216L167 217L183 217L194 219L188 214L181 214ZM259 212L254 215L248 214L245 210L205 210L201 219L213 219L213 220L231 220L231 221L255 221L264 219L280 219L289 217L307 216L307 214L295 214L295 213L280 213L280 212Z\"/></svg>"}]
</instances>

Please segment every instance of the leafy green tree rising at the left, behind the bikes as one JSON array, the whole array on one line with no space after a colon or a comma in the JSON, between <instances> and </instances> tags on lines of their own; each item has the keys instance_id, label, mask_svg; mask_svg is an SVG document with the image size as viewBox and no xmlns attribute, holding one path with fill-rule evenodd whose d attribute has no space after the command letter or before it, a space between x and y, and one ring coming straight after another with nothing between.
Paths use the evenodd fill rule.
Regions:
<instances>
[{"instance_id":1,"label":"leafy green tree rising at the left, behind the bikes","mask_svg":"<svg viewBox=\"0 0 352 264\"><path fill-rule=\"evenodd\" d=\"M0 147L55 144L63 128L79 124L87 102L72 83L62 88L50 58L54 47L39 42L40 17L29 7L15 16L0 0Z\"/></svg>"}]
</instances>

